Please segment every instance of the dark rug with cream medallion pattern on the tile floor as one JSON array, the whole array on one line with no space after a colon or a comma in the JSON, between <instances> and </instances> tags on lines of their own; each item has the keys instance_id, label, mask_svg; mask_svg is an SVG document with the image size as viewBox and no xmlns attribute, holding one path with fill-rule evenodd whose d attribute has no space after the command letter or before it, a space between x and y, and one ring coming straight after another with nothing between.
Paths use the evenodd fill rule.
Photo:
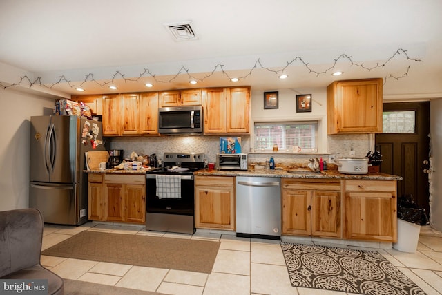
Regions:
<instances>
[{"instance_id":1,"label":"dark rug with cream medallion pattern on the tile floor","mask_svg":"<svg viewBox=\"0 0 442 295\"><path fill-rule=\"evenodd\" d=\"M376 251L281 243L291 285L340 292L425 294Z\"/></svg>"}]
</instances>

